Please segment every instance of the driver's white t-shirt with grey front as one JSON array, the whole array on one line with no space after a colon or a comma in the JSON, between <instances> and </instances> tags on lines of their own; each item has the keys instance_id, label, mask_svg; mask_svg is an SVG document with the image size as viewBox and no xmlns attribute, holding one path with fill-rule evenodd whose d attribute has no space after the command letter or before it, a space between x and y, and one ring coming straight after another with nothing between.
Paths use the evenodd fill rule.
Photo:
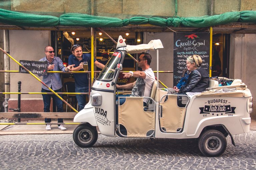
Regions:
<instances>
[{"instance_id":1,"label":"driver's white t-shirt with grey front","mask_svg":"<svg viewBox=\"0 0 256 170\"><path fill-rule=\"evenodd\" d=\"M131 96L150 97L153 82L155 80L155 74L151 68L144 70L146 78L137 78L135 85L132 88ZM143 99L143 102L148 103L149 99Z\"/></svg>"}]
</instances>

